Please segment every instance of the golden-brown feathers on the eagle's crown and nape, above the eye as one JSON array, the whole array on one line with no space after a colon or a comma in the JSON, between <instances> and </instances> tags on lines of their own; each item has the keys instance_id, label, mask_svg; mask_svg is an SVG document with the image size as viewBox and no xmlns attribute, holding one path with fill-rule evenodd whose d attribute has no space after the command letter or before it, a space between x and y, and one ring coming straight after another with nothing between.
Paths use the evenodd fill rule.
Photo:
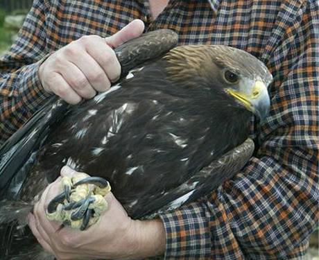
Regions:
<instances>
[{"instance_id":1,"label":"golden-brown feathers on the eagle's crown and nape, above the eye","mask_svg":"<svg viewBox=\"0 0 319 260\"><path fill-rule=\"evenodd\" d=\"M166 73L172 80L191 80L195 76L209 83L209 79L221 76L217 71L223 72L225 69L238 76L260 78L265 85L273 80L263 62L250 53L231 46L178 46L166 53L164 59L169 62Z\"/></svg>"}]
</instances>

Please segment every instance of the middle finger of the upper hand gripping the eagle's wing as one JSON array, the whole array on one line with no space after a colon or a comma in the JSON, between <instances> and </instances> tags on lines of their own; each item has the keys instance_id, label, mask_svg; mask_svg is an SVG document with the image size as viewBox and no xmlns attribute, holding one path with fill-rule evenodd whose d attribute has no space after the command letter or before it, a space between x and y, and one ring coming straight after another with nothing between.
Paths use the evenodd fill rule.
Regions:
<instances>
[{"instance_id":1,"label":"middle finger of the upper hand gripping the eagle's wing","mask_svg":"<svg viewBox=\"0 0 319 260\"><path fill-rule=\"evenodd\" d=\"M94 42L94 41L92 41ZM91 45L91 44L90 44ZM105 47L105 45L103 45ZM88 48L88 47L87 47ZM105 47L106 48L106 47ZM89 48L91 49L91 48ZM101 50L100 50L101 51ZM102 55L100 53L100 55ZM104 92L111 86L110 80L104 69L94 60L94 58L87 52L83 55L77 55L70 58L83 75L87 78L89 84L98 92Z\"/></svg>"}]
</instances>

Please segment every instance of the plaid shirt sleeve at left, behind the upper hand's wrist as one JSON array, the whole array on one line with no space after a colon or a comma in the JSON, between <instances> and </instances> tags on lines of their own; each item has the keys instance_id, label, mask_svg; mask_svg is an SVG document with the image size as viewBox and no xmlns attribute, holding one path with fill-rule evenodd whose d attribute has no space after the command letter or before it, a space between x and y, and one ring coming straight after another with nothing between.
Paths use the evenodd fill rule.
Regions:
<instances>
[{"instance_id":1,"label":"plaid shirt sleeve at left, behind the upper hand's wrist","mask_svg":"<svg viewBox=\"0 0 319 260\"><path fill-rule=\"evenodd\" d=\"M46 58L44 1L35 0L17 40L0 58L0 145L49 96L40 83L38 69Z\"/></svg>"}]
</instances>

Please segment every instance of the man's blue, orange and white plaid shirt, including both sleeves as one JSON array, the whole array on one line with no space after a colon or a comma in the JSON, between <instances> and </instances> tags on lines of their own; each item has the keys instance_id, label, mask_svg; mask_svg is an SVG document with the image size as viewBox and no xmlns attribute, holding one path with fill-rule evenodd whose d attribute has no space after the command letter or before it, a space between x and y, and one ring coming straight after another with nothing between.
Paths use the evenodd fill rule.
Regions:
<instances>
[{"instance_id":1,"label":"man's blue, orange and white plaid shirt, including both sleeves","mask_svg":"<svg viewBox=\"0 0 319 260\"><path fill-rule=\"evenodd\" d=\"M148 1L35 0L0 60L0 136L7 139L49 96L42 59L83 35L112 35L132 19L171 28L180 44L225 44L273 73L272 107L252 123L257 153L232 180L161 216L166 259L302 257L318 223L319 4L316 0L171 0L150 19Z\"/></svg>"}]
</instances>

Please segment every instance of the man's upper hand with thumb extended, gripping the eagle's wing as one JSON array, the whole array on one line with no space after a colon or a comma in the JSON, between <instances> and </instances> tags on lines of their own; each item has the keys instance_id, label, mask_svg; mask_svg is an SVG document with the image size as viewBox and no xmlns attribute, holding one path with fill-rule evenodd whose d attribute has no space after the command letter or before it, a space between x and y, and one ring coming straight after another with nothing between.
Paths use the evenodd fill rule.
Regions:
<instances>
[{"instance_id":1,"label":"man's upper hand with thumb extended, gripping the eagle's wing","mask_svg":"<svg viewBox=\"0 0 319 260\"><path fill-rule=\"evenodd\" d=\"M111 37L88 35L67 44L40 65L42 87L70 104L105 92L121 75L113 49L139 37L143 31L143 21L137 19Z\"/></svg>"}]
</instances>

